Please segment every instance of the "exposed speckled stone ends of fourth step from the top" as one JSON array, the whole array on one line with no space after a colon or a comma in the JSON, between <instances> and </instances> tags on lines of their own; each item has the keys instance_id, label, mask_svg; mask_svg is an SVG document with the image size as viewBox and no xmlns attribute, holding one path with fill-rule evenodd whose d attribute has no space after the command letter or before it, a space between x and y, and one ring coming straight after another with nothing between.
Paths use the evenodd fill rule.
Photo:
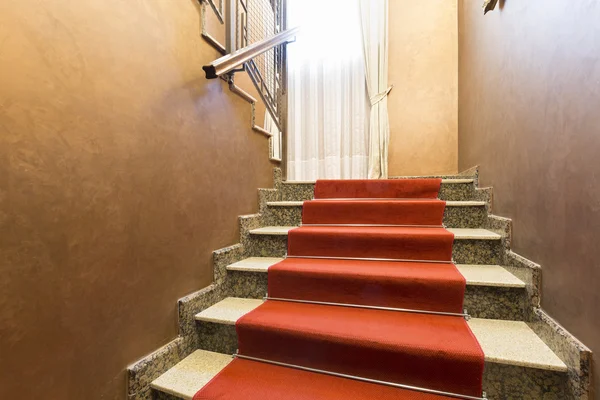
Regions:
<instances>
[{"instance_id":1,"label":"exposed speckled stone ends of fourth step from the top","mask_svg":"<svg viewBox=\"0 0 600 400\"><path fill-rule=\"evenodd\" d=\"M227 266L231 296L261 299L267 293L267 270L283 260L251 257ZM525 283L498 265L457 265L467 280L464 308L476 318L523 320Z\"/></svg>"}]
</instances>

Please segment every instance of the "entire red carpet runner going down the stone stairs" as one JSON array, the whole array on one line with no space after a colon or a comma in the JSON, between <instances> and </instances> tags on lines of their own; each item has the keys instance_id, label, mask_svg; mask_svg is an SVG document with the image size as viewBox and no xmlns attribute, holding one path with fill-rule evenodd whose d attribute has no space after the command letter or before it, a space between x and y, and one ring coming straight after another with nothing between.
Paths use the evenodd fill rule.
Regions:
<instances>
[{"instance_id":1,"label":"entire red carpet runner going down the stone stairs","mask_svg":"<svg viewBox=\"0 0 600 400\"><path fill-rule=\"evenodd\" d=\"M239 354L481 397L481 347L461 315L440 314L462 312L466 285L440 184L318 181L288 258L269 269L271 300L237 321ZM450 398L238 358L194 400Z\"/></svg>"}]
</instances>

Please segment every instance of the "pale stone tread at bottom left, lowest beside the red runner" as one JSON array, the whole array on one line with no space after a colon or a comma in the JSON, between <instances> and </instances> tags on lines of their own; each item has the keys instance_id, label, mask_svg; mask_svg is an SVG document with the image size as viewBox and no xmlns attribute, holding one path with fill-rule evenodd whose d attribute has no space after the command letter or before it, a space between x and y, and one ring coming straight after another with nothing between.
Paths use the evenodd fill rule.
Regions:
<instances>
[{"instance_id":1,"label":"pale stone tread at bottom left, lowest beside the red runner","mask_svg":"<svg viewBox=\"0 0 600 400\"><path fill-rule=\"evenodd\" d=\"M150 387L172 396L191 400L233 357L212 351L196 350L154 380Z\"/></svg>"}]
</instances>

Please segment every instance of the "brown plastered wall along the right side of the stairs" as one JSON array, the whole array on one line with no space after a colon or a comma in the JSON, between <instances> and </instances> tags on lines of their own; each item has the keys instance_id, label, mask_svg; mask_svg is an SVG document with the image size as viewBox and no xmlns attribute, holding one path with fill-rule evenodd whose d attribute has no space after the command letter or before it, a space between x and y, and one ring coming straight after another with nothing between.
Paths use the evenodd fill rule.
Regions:
<instances>
[{"instance_id":1,"label":"brown plastered wall along the right side of the stairs","mask_svg":"<svg viewBox=\"0 0 600 400\"><path fill-rule=\"evenodd\" d=\"M600 3L480 3L459 1L459 168L480 165L543 307L598 353Z\"/></svg>"}]
</instances>

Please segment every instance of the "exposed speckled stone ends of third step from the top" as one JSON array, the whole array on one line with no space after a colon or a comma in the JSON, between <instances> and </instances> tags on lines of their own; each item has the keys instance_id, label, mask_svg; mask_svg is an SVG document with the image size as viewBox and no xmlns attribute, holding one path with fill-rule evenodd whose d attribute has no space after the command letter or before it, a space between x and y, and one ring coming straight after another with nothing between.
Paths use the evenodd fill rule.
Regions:
<instances>
[{"instance_id":1,"label":"exposed speckled stone ends of third step from the top","mask_svg":"<svg viewBox=\"0 0 600 400\"><path fill-rule=\"evenodd\" d=\"M266 226L251 229L243 242L250 257L283 257L287 234L296 226ZM454 233L452 256L457 264L496 265L501 261L502 235L487 229L449 228Z\"/></svg>"}]
</instances>

